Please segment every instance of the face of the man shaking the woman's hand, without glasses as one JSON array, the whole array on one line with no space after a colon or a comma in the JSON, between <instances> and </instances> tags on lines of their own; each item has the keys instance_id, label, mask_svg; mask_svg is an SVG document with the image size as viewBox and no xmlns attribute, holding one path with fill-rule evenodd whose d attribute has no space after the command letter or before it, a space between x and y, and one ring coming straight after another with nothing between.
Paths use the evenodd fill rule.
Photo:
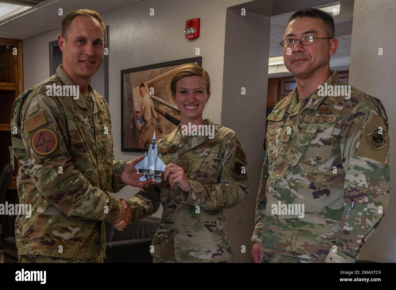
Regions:
<instances>
[{"instance_id":1,"label":"face of the man shaking the woman's hand, without glasses","mask_svg":"<svg viewBox=\"0 0 396 290\"><path fill-rule=\"evenodd\" d=\"M72 79L91 77L102 63L103 28L91 17L76 16L65 38L58 36L62 66Z\"/></svg>"}]
</instances>

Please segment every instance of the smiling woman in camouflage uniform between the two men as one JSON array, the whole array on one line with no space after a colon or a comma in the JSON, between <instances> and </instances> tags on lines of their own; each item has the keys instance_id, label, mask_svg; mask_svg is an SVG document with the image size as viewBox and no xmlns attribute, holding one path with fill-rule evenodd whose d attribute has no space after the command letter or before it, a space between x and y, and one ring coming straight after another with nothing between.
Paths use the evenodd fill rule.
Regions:
<instances>
[{"instance_id":1,"label":"smiling woman in camouflage uniform between the two men","mask_svg":"<svg viewBox=\"0 0 396 290\"><path fill-rule=\"evenodd\" d=\"M180 67L170 89L181 124L157 141L167 164L163 180L128 201L131 222L152 215L162 203L162 220L152 241L154 262L232 260L223 209L234 207L247 194L246 155L234 131L202 118L210 97L210 79L203 68ZM187 130L194 125L206 125L201 128L208 131ZM126 224L114 226L123 230Z\"/></svg>"}]
</instances>

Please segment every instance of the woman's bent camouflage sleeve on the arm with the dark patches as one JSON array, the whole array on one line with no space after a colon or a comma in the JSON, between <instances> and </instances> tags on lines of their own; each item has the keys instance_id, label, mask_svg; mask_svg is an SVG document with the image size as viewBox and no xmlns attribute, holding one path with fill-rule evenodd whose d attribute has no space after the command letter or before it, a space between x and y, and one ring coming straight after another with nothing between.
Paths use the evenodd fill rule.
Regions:
<instances>
[{"instance_id":1,"label":"woman's bent camouflage sleeve on the arm with the dark patches","mask_svg":"<svg viewBox=\"0 0 396 290\"><path fill-rule=\"evenodd\" d=\"M190 192L183 192L183 202L199 205L207 211L228 209L240 203L247 195L249 178L246 155L234 133L221 153L219 184L202 184L189 180Z\"/></svg>"}]
</instances>

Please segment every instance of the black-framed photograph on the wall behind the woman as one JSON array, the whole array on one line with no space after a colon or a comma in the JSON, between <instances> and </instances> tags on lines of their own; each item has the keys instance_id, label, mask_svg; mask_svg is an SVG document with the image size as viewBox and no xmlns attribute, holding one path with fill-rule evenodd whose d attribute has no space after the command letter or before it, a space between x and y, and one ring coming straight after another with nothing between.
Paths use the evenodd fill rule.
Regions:
<instances>
[{"instance_id":1,"label":"black-framed photograph on the wall behind the woman","mask_svg":"<svg viewBox=\"0 0 396 290\"><path fill-rule=\"evenodd\" d=\"M121 71L121 151L145 152L154 132L159 140L180 124L169 84L177 68L190 62L202 66L202 56Z\"/></svg>"}]
</instances>

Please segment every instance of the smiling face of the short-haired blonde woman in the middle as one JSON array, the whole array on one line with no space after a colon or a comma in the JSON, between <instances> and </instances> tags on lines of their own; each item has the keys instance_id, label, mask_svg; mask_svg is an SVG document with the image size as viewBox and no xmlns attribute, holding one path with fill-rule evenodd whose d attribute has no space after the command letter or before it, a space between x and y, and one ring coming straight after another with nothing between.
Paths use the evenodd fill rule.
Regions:
<instances>
[{"instance_id":1,"label":"smiling face of the short-haired blonde woman in the middle","mask_svg":"<svg viewBox=\"0 0 396 290\"><path fill-rule=\"evenodd\" d=\"M181 122L203 123L202 112L209 97L210 92L206 94L204 77L193 75L179 79L176 83L176 93L172 98L180 110Z\"/></svg>"}]
</instances>

